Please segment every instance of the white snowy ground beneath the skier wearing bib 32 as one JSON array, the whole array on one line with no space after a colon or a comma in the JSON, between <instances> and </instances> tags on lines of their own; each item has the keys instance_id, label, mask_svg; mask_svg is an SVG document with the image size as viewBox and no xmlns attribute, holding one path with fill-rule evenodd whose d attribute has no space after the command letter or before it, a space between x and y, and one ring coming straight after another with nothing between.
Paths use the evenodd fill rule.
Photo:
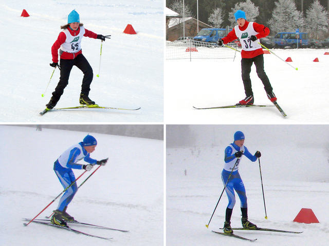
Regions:
<instances>
[{"instance_id":1,"label":"white snowy ground beneath the skier wearing bib 32","mask_svg":"<svg viewBox=\"0 0 329 246\"><path fill-rule=\"evenodd\" d=\"M275 107L196 110L224 106L245 98L241 79L241 55L222 60L165 61L165 122L167 124L296 124L328 123L328 49L273 49L280 58L290 57L291 66L273 54L264 54L265 72L278 103ZM313 62L316 58L319 62ZM254 104L271 105L253 65L250 73ZM237 121L239 119L239 121Z\"/></svg>"}]
</instances>

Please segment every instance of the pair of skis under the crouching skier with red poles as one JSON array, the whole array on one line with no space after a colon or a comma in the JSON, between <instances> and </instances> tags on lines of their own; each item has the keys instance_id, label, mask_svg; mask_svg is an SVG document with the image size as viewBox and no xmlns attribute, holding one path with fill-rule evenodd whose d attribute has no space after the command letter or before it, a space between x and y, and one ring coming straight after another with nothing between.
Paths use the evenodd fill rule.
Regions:
<instances>
[{"instance_id":1,"label":"pair of skis under the crouching skier with red poles","mask_svg":"<svg viewBox=\"0 0 329 246\"><path fill-rule=\"evenodd\" d=\"M27 219L27 218L23 218L23 219L25 219L27 221L31 221L31 219ZM32 220L32 222L38 223L38 224L44 224L44 225L54 226L54 227L59 228L59 229L64 229L64 230L67 230L67 231L70 231L70 232L74 232L74 233L77 233L77 234L86 235L86 236L89 236L89 237L96 237L96 238L101 238L101 239L106 239L106 240L113 239L113 238L100 237L100 236L96 236L96 235L93 235L93 234L81 232L81 231L72 229L69 226L61 226L61 225L52 224L52 223L50 223L50 220L49 219L35 219L35 220ZM114 230L114 231L119 231L119 232L129 232L129 231L125 231L125 230L108 228L108 227L102 226L102 225L95 225L95 224L83 223L83 222L79 222L79 221L76 221L76 220L74 220L74 221L66 221L66 222L68 222L68 223L74 223L74 224L82 224L82 225L92 226L94 228L105 229L105 230ZM27 223L24 223L24 225L27 225Z\"/></svg>"}]
</instances>

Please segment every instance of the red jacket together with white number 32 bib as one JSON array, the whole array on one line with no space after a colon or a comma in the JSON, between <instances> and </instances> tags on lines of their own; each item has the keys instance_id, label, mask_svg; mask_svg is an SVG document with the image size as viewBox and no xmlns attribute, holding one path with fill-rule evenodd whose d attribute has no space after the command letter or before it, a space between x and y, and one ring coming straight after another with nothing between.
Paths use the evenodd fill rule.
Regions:
<instances>
[{"instance_id":1,"label":"red jacket together with white number 32 bib","mask_svg":"<svg viewBox=\"0 0 329 246\"><path fill-rule=\"evenodd\" d=\"M249 22L247 22L247 21L243 27L237 25L233 28L232 31L230 31L227 34L226 37L223 37L223 39L222 39L224 44L227 44L229 42L232 42L233 40L239 39L241 42L241 45L243 47L243 49L241 51L242 58L254 58L257 55L264 54L264 51L261 46L259 46L260 48L253 49L253 50L251 50L250 48L248 49L248 48L244 47L243 40L246 40L246 37L243 37L244 31L247 31L247 29L248 30L253 29L252 30L253 33L247 33L247 36L255 35L257 37L257 39L260 39L261 37L266 37L270 32L268 27L265 27L264 25L261 25L261 24L255 23L255 22L251 22L250 25L252 25L252 27L248 28ZM237 33L235 32L235 28L239 28L239 33L240 34L242 33L242 36L239 36L239 34L237 35Z\"/></svg>"}]
</instances>

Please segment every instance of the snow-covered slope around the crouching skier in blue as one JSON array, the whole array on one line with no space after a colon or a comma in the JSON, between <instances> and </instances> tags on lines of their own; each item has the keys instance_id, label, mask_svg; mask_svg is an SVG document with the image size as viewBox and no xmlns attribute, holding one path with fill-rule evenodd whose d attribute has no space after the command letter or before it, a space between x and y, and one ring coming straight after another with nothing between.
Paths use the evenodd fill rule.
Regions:
<instances>
[{"instance_id":1,"label":"snow-covered slope around the crouching skier in blue","mask_svg":"<svg viewBox=\"0 0 329 246\"><path fill-rule=\"evenodd\" d=\"M77 220L122 233L87 226L72 228L111 241L30 223L62 191L53 162L87 133L31 127L0 126L1 245L163 245L163 141L93 134L98 146L92 158L109 161L79 188L67 212ZM24 137L22 137L24 136ZM83 163L83 161L81 162ZM92 172L92 171L90 171ZM83 171L75 170L76 177ZM84 174L80 185L91 173ZM39 218L51 215L59 199Z\"/></svg>"}]
</instances>

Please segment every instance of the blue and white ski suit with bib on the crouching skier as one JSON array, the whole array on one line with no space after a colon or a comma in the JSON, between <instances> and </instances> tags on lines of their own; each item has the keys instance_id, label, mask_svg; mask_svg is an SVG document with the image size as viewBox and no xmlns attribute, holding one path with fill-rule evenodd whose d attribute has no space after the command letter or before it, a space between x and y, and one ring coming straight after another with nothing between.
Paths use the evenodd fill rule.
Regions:
<instances>
[{"instance_id":1,"label":"blue and white ski suit with bib on the crouching skier","mask_svg":"<svg viewBox=\"0 0 329 246\"><path fill-rule=\"evenodd\" d=\"M82 146L82 142L80 142L65 150L65 152L54 163L53 169L64 188L68 187L76 180L72 168L83 169L83 165L77 164L77 162L82 159L90 164L97 163L97 160L90 158L90 154ZM77 183L74 183L61 197L57 209L63 211L64 207L72 201L77 191L78 185Z\"/></svg>"}]
</instances>

